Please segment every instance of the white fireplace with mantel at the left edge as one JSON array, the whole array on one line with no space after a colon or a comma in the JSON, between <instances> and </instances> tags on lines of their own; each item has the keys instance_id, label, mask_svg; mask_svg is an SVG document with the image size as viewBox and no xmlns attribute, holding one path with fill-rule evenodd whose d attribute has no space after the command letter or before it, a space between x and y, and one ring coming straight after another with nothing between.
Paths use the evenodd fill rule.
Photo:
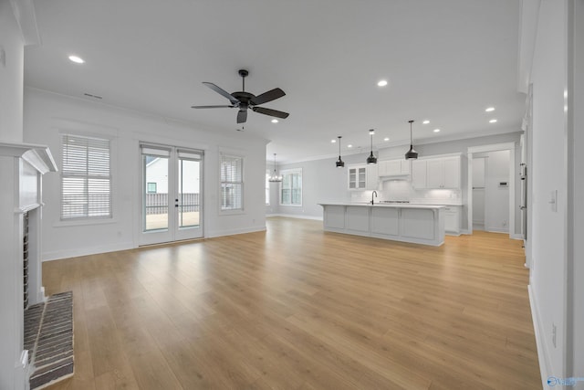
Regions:
<instances>
[{"instance_id":1,"label":"white fireplace with mantel at the left edge","mask_svg":"<svg viewBox=\"0 0 584 390\"><path fill-rule=\"evenodd\" d=\"M42 176L57 166L46 146L0 142L0 388L28 388L24 311L45 300L40 260Z\"/></svg>"}]
</instances>

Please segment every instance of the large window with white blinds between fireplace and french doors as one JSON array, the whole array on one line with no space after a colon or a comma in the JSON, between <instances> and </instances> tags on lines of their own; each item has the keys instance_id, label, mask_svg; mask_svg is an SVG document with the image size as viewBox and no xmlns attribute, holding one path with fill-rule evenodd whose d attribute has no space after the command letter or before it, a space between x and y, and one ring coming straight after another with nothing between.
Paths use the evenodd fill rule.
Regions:
<instances>
[{"instance_id":1,"label":"large window with white blinds between fireplace and french doors","mask_svg":"<svg viewBox=\"0 0 584 390\"><path fill-rule=\"evenodd\" d=\"M110 140L63 134L61 219L111 217Z\"/></svg>"}]
</instances>

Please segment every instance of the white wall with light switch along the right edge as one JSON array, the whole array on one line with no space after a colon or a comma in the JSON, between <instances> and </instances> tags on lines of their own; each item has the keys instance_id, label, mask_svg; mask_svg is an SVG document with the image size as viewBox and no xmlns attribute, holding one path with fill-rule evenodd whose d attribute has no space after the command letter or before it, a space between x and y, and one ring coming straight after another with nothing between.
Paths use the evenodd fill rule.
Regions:
<instances>
[{"instance_id":1,"label":"white wall with light switch along the right edge","mask_svg":"<svg viewBox=\"0 0 584 390\"><path fill-rule=\"evenodd\" d=\"M567 295L573 289L567 285L566 250L570 229L567 226L567 215L571 213L567 204L567 172L571 162L567 160L567 120L564 111L568 75L568 3L554 0L541 2L531 74L533 132L528 153L531 154L533 166L530 169L532 193L528 195L531 205L528 223L532 234L528 237L527 245L530 246L528 253L532 257L530 298L534 308L537 350L544 383L548 375L565 377L570 371L567 351L584 348L581 341L578 345L574 344L566 332L570 325ZM552 205L550 202L556 192L557 204ZM576 283L580 282L576 279ZM579 305L581 298L577 298ZM574 374L582 376L584 367L579 368L579 372ZM582 384L579 386L577 388L582 388Z\"/></svg>"}]
</instances>

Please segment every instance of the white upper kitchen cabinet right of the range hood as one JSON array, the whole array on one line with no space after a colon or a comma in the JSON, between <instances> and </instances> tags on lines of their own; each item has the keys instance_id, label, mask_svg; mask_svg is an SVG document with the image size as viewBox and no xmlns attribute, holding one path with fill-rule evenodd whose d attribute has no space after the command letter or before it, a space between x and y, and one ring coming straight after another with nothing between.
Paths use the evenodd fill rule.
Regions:
<instances>
[{"instance_id":1,"label":"white upper kitchen cabinet right of the range hood","mask_svg":"<svg viewBox=\"0 0 584 390\"><path fill-rule=\"evenodd\" d=\"M412 186L460 189L460 171L460 156L415 160L412 162Z\"/></svg>"}]
</instances>

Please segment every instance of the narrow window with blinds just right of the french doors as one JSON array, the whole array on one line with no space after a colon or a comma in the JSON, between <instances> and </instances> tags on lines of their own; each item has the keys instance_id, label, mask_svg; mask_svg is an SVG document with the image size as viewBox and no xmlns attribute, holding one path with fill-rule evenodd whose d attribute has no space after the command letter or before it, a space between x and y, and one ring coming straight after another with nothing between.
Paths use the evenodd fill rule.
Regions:
<instances>
[{"instance_id":1,"label":"narrow window with blinds just right of the french doors","mask_svg":"<svg viewBox=\"0 0 584 390\"><path fill-rule=\"evenodd\" d=\"M221 156L221 210L244 209L244 159Z\"/></svg>"}]
</instances>

